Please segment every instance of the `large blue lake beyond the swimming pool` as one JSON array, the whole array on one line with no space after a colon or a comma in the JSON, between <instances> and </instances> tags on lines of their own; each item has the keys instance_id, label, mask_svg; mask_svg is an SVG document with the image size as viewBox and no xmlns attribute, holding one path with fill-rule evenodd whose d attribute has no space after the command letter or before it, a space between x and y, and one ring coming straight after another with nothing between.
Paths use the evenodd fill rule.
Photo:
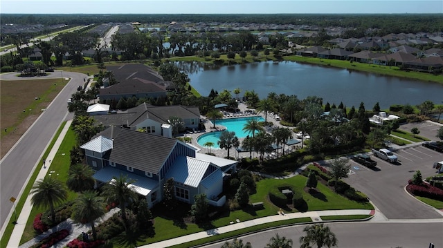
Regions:
<instances>
[{"instance_id":1,"label":"large blue lake beyond the swimming pool","mask_svg":"<svg viewBox=\"0 0 443 248\"><path fill-rule=\"evenodd\" d=\"M329 68L293 61L255 62L233 66L213 66L197 62L177 62L177 66L190 78L190 84L201 95L209 95L210 90L218 92L235 88L255 90L260 99L268 93L296 95L298 99L316 95L323 97L323 103L343 102L347 108L371 109L376 102L381 108L393 104L421 104L431 100L435 104L443 101L443 84L421 82L361 73L355 70Z\"/></svg>"}]
</instances>

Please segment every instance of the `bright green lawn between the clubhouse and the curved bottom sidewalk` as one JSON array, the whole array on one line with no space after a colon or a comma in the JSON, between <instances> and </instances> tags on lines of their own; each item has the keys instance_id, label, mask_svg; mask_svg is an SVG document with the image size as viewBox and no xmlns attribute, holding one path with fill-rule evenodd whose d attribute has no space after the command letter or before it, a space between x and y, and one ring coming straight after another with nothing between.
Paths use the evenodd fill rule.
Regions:
<instances>
[{"instance_id":1,"label":"bright green lawn between the clubhouse and the curved bottom sidewalk","mask_svg":"<svg viewBox=\"0 0 443 248\"><path fill-rule=\"evenodd\" d=\"M348 200L347 198L334 193L334 191L331 191L328 187L320 183L318 184L317 188L318 191L321 192L320 194L314 196L309 193L305 193L305 191L303 191L303 188L305 187L306 180L307 178L302 175L297 175L293 178L288 178L284 180L262 179L257 182L257 193L250 195L249 202L264 202L264 209L255 210L252 207L245 207L241 210L226 212L223 213L220 218L217 218L217 220L213 220L210 225L205 225L204 227L199 227L194 223L181 223L181 225L177 225L177 222L174 222L174 220L172 219L156 217L154 219L155 236L153 238L145 238L144 240L142 240L141 238L141 240L138 240L137 244L145 245L147 243L159 242L162 240L168 240L170 238L185 236L190 233L205 231L206 229L223 227L226 225L230 225L229 222L236 219L246 221L264 216L275 215L280 208L275 206L268 200L267 194L271 188L275 187L276 184L290 184L293 185L293 189L298 189L302 191L303 198L306 200L308 205L307 211L320 211L330 209L374 209L374 207L372 207L372 204L370 203L359 203ZM284 209L284 211L287 213L298 212L296 209ZM155 212L153 213L155 214ZM356 217L352 217L351 219L354 218ZM238 231L239 233L247 233L249 230L242 229ZM219 238L219 236L216 237L216 239ZM122 237L116 237L111 241L113 242L114 246L117 245L117 247L120 247L118 246L118 240L122 240ZM180 247L186 246L183 245Z\"/></svg>"}]
</instances>

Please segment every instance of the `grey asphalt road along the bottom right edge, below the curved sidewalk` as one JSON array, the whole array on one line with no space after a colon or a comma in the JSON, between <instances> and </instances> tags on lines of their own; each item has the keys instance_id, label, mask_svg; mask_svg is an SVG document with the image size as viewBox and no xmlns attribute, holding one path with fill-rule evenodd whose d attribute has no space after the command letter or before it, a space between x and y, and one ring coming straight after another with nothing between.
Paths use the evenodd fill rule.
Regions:
<instances>
[{"instance_id":1,"label":"grey asphalt road along the bottom right edge, below the curved sidewalk","mask_svg":"<svg viewBox=\"0 0 443 248\"><path fill-rule=\"evenodd\" d=\"M435 247L443 247L442 222L336 222L327 224L338 239L341 248L373 248L373 247L428 247L432 242ZM306 225L282 227L269 231L241 236L243 244L251 242L252 247L265 247L269 239L278 233L279 236L291 238L293 247L299 247L298 241L305 236ZM224 242L217 242L207 248L219 248Z\"/></svg>"}]
</instances>

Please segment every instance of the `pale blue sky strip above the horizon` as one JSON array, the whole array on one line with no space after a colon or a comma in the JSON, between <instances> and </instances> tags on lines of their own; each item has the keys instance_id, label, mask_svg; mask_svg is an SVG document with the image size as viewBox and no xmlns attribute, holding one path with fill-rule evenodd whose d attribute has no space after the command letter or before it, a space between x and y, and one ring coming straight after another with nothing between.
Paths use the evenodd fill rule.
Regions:
<instances>
[{"instance_id":1,"label":"pale blue sky strip above the horizon","mask_svg":"<svg viewBox=\"0 0 443 248\"><path fill-rule=\"evenodd\" d=\"M443 14L443 0L1 0L0 13Z\"/></svg>"}]
</instances>

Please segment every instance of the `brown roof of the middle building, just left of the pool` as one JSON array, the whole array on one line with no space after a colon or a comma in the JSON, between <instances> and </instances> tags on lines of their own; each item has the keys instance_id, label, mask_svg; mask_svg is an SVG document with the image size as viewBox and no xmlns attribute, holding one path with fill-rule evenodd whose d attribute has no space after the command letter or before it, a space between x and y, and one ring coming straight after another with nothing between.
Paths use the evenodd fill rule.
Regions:
<instances>
[{"instance_id":1,"label":"brown roof of the middle building, just left of the pool","mask_svg":"<svg viewBox=\"0 0 443 248\"><path fill-rule=\"evenodd\" d=\"M180 117L182 120L200 117L198 107L181 105L153 106L146 104L145 102L134 108L130 108L127 112L135 113L132 120L129 120L129 126L134 126L146 119L154 120L159 123L168 123L168 119L171 116Z\"/></svg>"}]
</instances>

